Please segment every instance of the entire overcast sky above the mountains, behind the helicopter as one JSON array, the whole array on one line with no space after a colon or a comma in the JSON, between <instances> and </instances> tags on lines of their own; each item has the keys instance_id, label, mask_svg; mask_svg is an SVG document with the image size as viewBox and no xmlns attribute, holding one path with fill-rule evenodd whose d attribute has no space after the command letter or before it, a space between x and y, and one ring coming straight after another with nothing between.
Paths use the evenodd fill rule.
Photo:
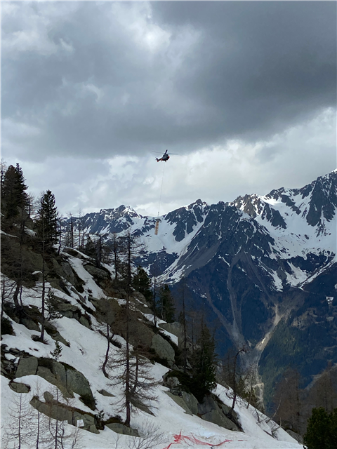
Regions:
<instances>
[{"instance_id":1,"label":"entire overcast sky above the mountains, behind the helicopter","mask_svg":"<svg viewBox=\"0 0 337 449\"><path fill-rule=\"evenodd\" d=\"M62 213L336 168L335 1L2 1L2 156ZM168 163L153 152L178 153Z\"/></svg>"}]
</instances>

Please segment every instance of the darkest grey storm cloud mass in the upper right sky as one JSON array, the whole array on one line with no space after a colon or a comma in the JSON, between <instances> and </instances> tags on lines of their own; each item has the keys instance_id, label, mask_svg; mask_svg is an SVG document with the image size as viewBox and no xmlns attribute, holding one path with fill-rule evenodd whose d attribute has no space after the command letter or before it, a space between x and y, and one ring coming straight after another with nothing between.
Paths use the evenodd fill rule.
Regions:
<instances>
[{"instance_id":1,"label":"darkest grey storm cloud mass in the upper right sky","mask_svg":"<svg viewBox=\"0 0 337 449\"><path fill-rule=\"evenodd\" d=\"M218 132L222 123L227 135L268 133L336 106L336 4L168 2L156 10L202 29L177 86L216 109Z\"/></svg>"}]
</instances>

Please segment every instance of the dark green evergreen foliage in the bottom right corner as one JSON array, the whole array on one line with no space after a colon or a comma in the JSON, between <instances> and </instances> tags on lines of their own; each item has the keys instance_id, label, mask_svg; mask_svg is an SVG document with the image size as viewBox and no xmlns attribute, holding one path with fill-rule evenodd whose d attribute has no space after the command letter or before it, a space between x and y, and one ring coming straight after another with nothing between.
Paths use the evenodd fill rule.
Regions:
<instances>
[{"instance_id":1,"label":"dark green evergreen foliage in the bottom right corner","mask_svg":"<svg viewBox=\"0 0 337 449\"><path fill-rule=\"evenodd\" d=\"M337 447L337 408L327 413L323 407L313 408L304 436L307 449L335 449Z\"/></svg>"}]
</instances>

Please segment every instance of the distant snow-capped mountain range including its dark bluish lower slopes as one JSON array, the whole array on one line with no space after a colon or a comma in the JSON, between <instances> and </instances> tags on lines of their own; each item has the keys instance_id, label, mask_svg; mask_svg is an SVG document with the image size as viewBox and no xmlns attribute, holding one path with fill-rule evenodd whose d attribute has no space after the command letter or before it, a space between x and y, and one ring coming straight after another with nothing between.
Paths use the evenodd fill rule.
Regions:
<instances>
[{"instance_id":1,"label":"distant snow-capped mountain range including its dark bluish lower slopes","mask_svg":"<svg viewBox=\"0 0 337 449\"><path fill-rule=\"evenodd\" d=\"M302 319L302 333L308 333L303 360L295 363L293 354L279 350L285 351L283 363L295 363L309 382L327 361L337 362L331 349L337 337L336 210L334 170L301 189L239 196L232 203L197 200L159 217L157 235L156 218L126 206L88 214L81 227L107 240L130 228L147 248L138 262L173 288L184 277L190 307L216 321L220 353L230 344L249 345L246 362L259 364L270 384L276 374L264 357L275 335L282 340L279 323ZM316 331L324 344L312 337ZM305 363L305 351L315 363Z\"/></svg>"}]
</instances>

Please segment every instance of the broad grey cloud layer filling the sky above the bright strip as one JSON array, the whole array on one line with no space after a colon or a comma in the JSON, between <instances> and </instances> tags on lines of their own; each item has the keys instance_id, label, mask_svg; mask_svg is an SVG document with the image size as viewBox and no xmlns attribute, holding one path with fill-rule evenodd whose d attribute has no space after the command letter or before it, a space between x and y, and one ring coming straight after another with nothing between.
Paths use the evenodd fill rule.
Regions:
<instances>
[{"instance_id":1,"label":"broad grey cloud layer filling the sky above the bright strip","mask_svg":"<svg viewBox=\"0 0 337 449\"><path fill-rule=\"evenodd\" d=\"M22 158L181 153L336 106L336 4L67 7L20 4L4 18L5 146Z\"/></svg>"}]
</instances>

